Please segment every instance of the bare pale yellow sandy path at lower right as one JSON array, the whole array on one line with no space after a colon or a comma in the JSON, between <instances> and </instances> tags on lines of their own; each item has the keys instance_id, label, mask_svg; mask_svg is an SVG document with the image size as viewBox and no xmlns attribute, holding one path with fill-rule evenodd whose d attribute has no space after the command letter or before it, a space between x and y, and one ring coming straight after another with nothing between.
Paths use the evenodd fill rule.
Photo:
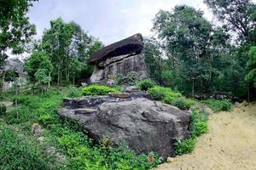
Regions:
<instances>
[{"instance_id":1,"label":"bare pale yellow sandy path at lower right","mask_svg":"<svg viewBox=\"0 0 256 170\"><path fill-rule=\"evenodd\" d=\"M195 150L158 170L256 170L256 103L209 116L209 133Z\"/></svg>"}]
</instances>

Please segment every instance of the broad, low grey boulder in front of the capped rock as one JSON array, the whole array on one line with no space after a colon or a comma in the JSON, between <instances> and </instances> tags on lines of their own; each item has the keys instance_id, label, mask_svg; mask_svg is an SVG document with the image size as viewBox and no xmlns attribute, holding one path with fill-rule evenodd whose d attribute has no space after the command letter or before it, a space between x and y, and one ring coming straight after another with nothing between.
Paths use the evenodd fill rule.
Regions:
<instances>
[{"instance_id":1,"label":"broad, low grey boulder in front of the capped rock","mask_svg":"<svg viewBox=\"0 0 256 170\"><path fill-rule=\"evenodd\" d=\"M79 121L98 142L108 137L115 144L125 141L137 153L173 156L175 140L189 136L189 111L147 98L148 94L133 92L64 99L58 113Z\"/></svg>"}]
</instances>

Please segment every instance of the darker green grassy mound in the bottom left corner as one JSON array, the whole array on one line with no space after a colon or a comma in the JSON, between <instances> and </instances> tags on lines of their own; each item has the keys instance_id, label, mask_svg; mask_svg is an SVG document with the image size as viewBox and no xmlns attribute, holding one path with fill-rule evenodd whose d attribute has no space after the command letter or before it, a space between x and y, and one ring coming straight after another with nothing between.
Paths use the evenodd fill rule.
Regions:
<instances>
[{"instance_id":1,"label":"darker green grassy mound in the bottom left corner","mask_svg":"<svg viewBox=\"0 0 256 170\"><path fill-rule=\"evenodd\" d=\"M42 169L47 163L32 144L19 139L12 130L4 129L0 133L0 169Z\"/></svg>"}]
</instances>

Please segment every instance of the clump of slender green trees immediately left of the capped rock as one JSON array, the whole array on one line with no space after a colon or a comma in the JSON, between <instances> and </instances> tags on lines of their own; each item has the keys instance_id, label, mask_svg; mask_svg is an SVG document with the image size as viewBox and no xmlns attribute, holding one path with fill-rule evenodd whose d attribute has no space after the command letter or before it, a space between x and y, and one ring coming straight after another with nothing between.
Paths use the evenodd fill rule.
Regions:
<instances>
[{"instance_id":1,"label":"clump of slender green trees immediately left of the capped rock","mask_svg":"<svg viewBox=\"0 0 256 170\"><path fill-rule=\"evenodd\" d=\"M89 36L78 24L73 21L65 23L61 18L50 21L50 28L44 31L42 38L42 48L49 54L55 73L52 77L57 84L71 82L70 77L79 78L82 72L90 75L93 70L89 65L90 54L101 47L102 42ZM73 61L79 62L82 69L72 68Z\"/></svg>"}]
</instances>

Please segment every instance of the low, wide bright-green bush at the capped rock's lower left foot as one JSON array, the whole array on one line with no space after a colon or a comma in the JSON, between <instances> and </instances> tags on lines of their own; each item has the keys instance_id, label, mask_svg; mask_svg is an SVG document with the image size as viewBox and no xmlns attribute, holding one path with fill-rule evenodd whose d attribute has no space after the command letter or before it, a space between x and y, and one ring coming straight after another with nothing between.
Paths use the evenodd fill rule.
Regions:
<instances>
[{"instance_id":1,"label":"low, wide bright-green bush at the capped rock's lower left foot","mask_svg":"<svg viewBox=\"0 0 256 170\"><path fill-rule=\"evenodd\" d=\"M102 86L93 84L82 89L82 93L85 96L88 95L107 95L108 93L118 92L115 88L109 88L108 86Z\"/></svg>"}]
</instances>

